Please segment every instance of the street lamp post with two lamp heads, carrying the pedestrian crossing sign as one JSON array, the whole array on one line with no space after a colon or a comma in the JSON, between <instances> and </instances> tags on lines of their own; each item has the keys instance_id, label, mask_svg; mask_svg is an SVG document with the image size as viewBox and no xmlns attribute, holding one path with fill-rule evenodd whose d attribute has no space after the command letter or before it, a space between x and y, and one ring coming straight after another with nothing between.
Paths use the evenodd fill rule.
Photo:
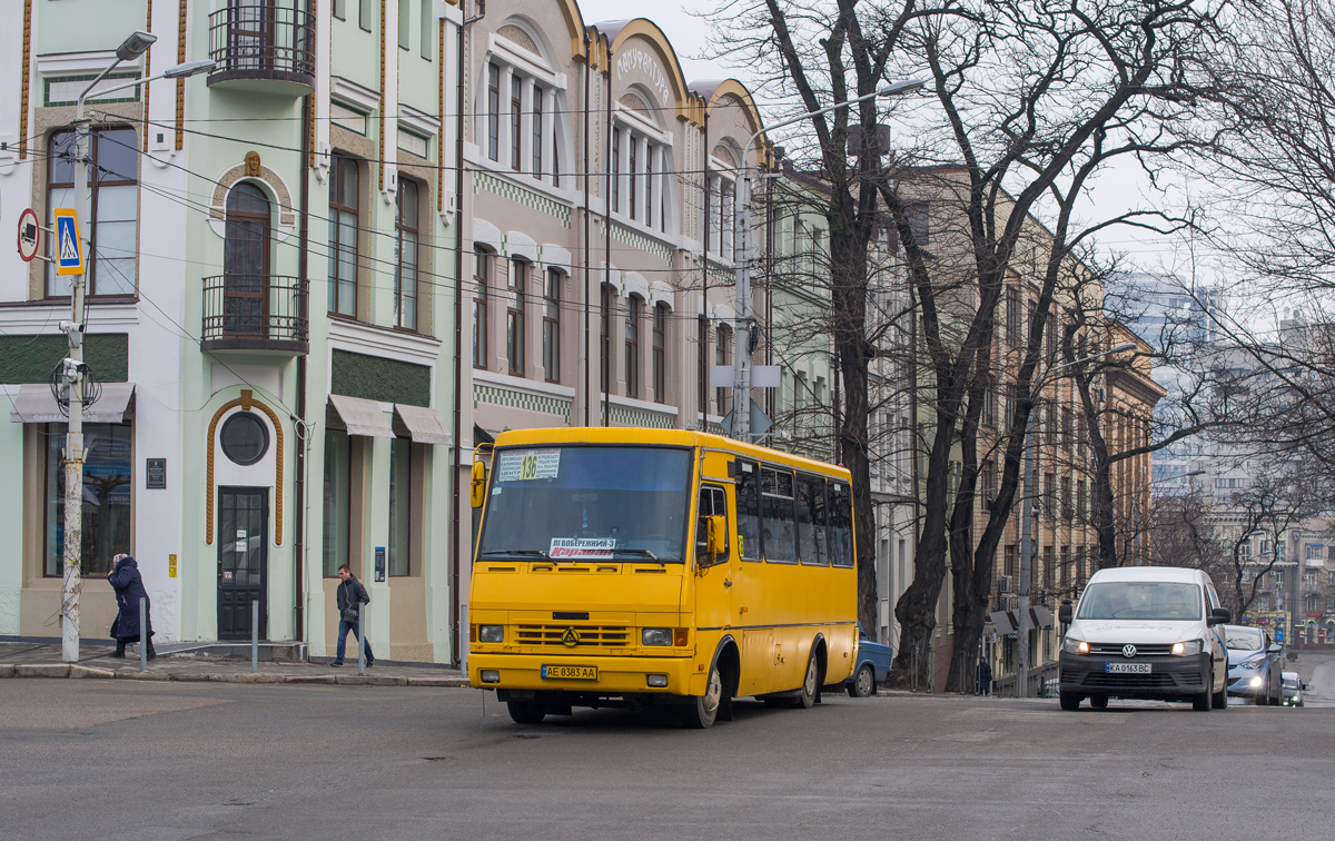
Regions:
<instances>
[{"instance_id":1,"label":"street lamp post with two lamp heads, carrying the pedestrian crossing sign","mask_svg":"<svg viewBox=\"0 0 1335 841\"><path fill-rule=\"evenodd\" d=\"M116 60L97 73L97 77L88 83L88 87L79 93L75 104L75 214L81 222L79 236L91 247L92 219L88 214L88 139L92 133L91 120L84 116L84 101L93 88L97 87L107 75L121 61L129 61L144 55L158 40L156 35L148 32L134 32L120 47L116 48ZM113 84L101 88L97 93L105 95L124 88L134 88L148 84L158 79L184 79L214 68L212 61L187 61L178 64L156 76L134 79L123 84ZM57 243L59 247L59 243ZM64 662L79 662L79 591L83 587L80 562L83 557L83 334L84 334L84 295L87 294L87 266L92 259L88 248L84 250L84 271L71 275L71 320L61 322L60 327L69 339L69 355L65 358L64 379L65 394L69 396L69 430L65 435L65 494L64 494L64 581L61 585L61 627L60 627L60 658Z\"/></svg>"}]
</instances>

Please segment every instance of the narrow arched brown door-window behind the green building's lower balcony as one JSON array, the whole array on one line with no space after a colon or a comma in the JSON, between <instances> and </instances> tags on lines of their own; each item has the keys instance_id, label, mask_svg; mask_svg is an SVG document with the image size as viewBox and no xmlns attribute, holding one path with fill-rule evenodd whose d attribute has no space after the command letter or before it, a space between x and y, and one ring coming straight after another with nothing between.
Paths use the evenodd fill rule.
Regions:
<instances>
[{"instance_id":1,"label":"narrow arched brown door-window behind the green building's lower balcony","mask_svg":"<svg viewBox=\"0 0 1335 841\"><path fill-rule=\"evenodd\" d=\"M268 295L268 198L250 182L227 194L223 234L223 332L263 336Z\"/></svg>"}]
</instances>

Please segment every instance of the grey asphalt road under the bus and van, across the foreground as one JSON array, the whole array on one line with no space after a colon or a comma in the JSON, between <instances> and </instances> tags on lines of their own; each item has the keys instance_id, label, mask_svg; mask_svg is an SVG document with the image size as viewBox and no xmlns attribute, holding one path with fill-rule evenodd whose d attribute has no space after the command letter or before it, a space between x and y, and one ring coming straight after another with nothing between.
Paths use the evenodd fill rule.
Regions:
<instances>
[{"instance_id":1,"label":"grey asphalt road under the bus and van, across the foreground","mask_svg":"<svg viewBox=\"0 0 1335 841\"><path fill-rule=\"evenodd\" d=\"M841 695L696 732L518 726L471 689L7 679L0 710L13 841L1315 840L1335 814L1332 708Z\"/></svg>"}]
</instances>

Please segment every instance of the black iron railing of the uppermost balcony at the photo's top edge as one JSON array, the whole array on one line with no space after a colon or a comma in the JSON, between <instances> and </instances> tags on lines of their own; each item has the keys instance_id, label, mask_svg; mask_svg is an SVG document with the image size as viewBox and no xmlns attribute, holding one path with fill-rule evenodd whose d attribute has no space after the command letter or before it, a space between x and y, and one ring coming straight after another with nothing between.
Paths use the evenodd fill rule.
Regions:
<instances>
[{"instance_id":1,"label":"black iron railing of the uppermost balcony at the photo's top edge","mask_svg":"<svg viewBox=\"0 0 1335 841\"><path fill-rule=\"evenodd\" d=\"M304 96L315 89L315 16L306 0L224 0L208 16L210 87Z\"/></svg>"}]
</instances>

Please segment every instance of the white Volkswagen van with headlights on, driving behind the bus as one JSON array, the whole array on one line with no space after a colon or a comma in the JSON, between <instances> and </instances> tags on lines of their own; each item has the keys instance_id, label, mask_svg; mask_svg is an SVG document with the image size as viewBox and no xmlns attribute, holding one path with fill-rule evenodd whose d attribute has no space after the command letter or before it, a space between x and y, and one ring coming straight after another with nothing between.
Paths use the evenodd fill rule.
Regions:
<instances>
[{"instance_id":1,"label":"white Volkswagen van with headlights on, driving behind the bus","mask_svg":"<svg viewBox=\"0 0 1335 841\"><path fill-rule=\"evenodd\" d=\"M1061 641L1061 709L1077 709L1085 698L1095 709L1108 706L1108 698L1191 701L1196 712L1228 705L1220 626L1232 617L1200 570L1099 570L1075 611L1067 602L1059 618L1069 625Z\"/></svg>"}]
</instances>

